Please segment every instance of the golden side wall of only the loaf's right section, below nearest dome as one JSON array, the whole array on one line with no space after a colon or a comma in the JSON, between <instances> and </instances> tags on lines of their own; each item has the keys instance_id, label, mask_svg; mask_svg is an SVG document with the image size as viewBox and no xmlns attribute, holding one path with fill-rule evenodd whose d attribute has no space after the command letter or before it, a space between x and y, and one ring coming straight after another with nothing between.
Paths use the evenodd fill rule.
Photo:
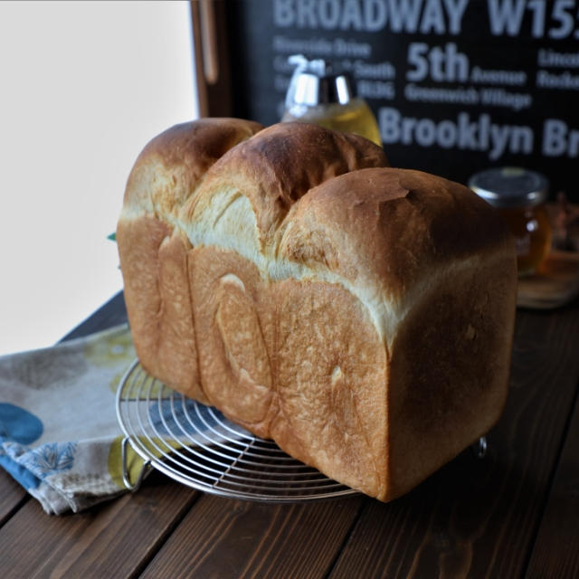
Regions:
<instances>
[{"instance_id":1,"label":"golden side wall of only the loaf's right section, below nearest dome","mask_svg":"<svg viewBox=\"0 0 579 579\"><path fill-rule=\"evenodd\" d=\"M274 440L330 478L384 498L388 360L365 304L322 280L277 281L270 295L278 311Z\"/></svg>"}]
</instances>

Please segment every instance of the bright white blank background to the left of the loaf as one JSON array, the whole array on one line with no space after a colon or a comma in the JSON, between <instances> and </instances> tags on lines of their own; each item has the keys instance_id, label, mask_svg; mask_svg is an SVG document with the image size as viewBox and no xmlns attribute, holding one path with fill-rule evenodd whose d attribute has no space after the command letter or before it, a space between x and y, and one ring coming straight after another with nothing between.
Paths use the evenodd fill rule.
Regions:
<instances>
[{"instance_id":1,"label":"bright white blank background to the left of the loaf","mask_svg":"<svg viewBox=\"0 0 579 579\"><path fill-rule=\"evenodd\" d=\"M114 232L149 138L198 116L188 2L0 2L0 355L122 285Z\"/></svg>"}]
</instances>

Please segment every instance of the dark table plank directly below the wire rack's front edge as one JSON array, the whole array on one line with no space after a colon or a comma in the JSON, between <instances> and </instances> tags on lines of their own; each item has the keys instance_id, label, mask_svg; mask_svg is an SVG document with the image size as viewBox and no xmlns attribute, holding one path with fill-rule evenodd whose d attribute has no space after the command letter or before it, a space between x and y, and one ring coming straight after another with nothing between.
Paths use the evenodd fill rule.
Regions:
<instances>
[{"instance_id":1,"label":"dark table plank directly below the wire rack's front edge","mask_svg":"<svg viewBox=\"0 0 579 579\"><path fill-rule=\"evenodd\" d=\"M141 576L323 577L364 500L266 505L204 496Z\"/></svg>"}]
</instances>

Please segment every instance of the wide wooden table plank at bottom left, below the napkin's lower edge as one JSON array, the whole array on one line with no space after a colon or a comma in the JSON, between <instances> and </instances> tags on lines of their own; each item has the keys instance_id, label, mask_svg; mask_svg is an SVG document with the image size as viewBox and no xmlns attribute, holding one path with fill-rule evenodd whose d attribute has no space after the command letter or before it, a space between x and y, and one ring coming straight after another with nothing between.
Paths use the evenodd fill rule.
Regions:
<instances>
[{"instance_id":1,"label":"wide wooden table plank at bottom left, below the napkin's lower edge","mask_svg":"<svg viewBox=\"0 0 579 579\"><path fill-rule=\"evenodd\" d=\"M29 500L0 529L2 577L134 576L195 498L162 478L77 515L48 517Z\"/></svg>"}]
</instances>

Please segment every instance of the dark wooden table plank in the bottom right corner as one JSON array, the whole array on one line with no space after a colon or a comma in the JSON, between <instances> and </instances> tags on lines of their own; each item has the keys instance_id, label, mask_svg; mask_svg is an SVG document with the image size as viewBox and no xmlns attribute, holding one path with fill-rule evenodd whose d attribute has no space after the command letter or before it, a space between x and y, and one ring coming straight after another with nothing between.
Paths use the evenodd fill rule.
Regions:
<instances>
[{"instance_id":1,"label":"dark wooden table plank in the bottom right corner","mask_svg":"<svg viewBox=\"0 0 579 579\"><path fill-rule=\"evenodd\" d=\"M579 402L539 527L527 578L579 577Z\"/></svg>"}]
</instances>

